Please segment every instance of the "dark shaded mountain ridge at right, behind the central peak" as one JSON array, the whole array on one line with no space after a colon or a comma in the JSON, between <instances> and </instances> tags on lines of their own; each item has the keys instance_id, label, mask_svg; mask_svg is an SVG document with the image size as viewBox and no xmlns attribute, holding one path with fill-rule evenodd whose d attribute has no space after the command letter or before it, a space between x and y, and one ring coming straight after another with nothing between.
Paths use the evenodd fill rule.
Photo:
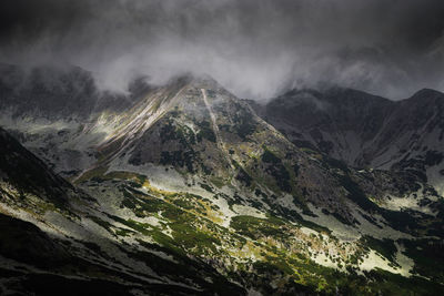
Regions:
<instances>
[{"instance_id":1,"label":"dark shaded mountain ridge at right, behind the central peak","mask_svg":"<svg viewBox=\"0 0 444 296\"><path fill-rule=\"evenodd\" d=\"M293 90L256 112L295 145L354 167L410 171L443 195L444 94L390 101L351 89Z\"/></svg>"}]
</instances>

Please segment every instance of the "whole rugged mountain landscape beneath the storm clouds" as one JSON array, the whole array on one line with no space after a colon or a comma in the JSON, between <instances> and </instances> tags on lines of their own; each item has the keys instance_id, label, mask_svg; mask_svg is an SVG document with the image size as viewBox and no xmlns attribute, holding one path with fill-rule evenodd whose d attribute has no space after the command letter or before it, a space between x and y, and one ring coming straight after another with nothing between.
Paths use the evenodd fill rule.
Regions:
<instances>
[{"instance_id":1,"label":"whole rugged mountain landscape beneath the storm clouds","mask_svg":"<svg viewBox=\"0 0 444 296\"><path fill-rule=\"evenodd\" d=\"M0 210L23 228L14 239L36 233L61 261L100 271L69 263L59 280L112 289L120 278L122 294L441 288L443 197L428 177L441 164L437 92L394 103L292 91L262 106L211 78L135 81L117 96L81 69L1 71ZM61 268L21 264L27 278Z\"/></svg>"}]
</instances>

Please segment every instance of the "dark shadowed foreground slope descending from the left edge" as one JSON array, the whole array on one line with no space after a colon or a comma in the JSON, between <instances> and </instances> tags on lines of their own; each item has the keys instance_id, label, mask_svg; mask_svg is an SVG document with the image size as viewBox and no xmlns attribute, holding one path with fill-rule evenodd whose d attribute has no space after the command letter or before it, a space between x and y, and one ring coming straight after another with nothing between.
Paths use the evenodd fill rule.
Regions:
<instances>
[{"instance_id":1,"label":"dark shadowed foreground slope descending from the left edge","mask_svg":"<svg viewBox=\"0 0 444 296\"><path fill-rule=\"evenodd\" d=\"M105 213L97 200L53 174L3 130L0 142L2 292L195 295L210 288L205 280L214 292L215 283L226 293L242 292L204 263L164 254L142 241L123 243L103 215L123 222L115 226L123 237L135 233L125 225L137 222L127 223L115 211ZM194 274L188 274L191 271Z\"/></svg>"}]
</instances>

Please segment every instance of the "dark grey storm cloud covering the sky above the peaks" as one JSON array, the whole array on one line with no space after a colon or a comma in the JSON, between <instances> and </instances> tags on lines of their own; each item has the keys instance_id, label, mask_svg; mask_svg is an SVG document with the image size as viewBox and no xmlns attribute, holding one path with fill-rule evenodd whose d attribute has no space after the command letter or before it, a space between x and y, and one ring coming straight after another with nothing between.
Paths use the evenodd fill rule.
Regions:
<instances>
[{"instance_id":1,"label":"dark grey storm cloud covering the sky above the peaks","mask_svg":"<svg viewBox=\"0 0 444 296\"><path fill-rule=\"evenodd\" d=\"M442 0L3 0L0 59L69 63L124 90L208 73L241 96L340 84L444 90Z\"/></svg>"}]
</instances>

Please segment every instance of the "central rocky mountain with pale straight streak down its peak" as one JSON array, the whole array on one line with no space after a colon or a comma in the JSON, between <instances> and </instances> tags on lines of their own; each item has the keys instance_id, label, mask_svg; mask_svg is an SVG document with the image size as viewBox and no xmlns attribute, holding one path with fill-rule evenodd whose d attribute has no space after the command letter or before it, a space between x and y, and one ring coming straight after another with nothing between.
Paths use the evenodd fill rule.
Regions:
<instances>
[{"instance_id":1,"label":"central rocky mountain with pale straight streak down its peak","mask_svg":"<svg viewBox=\"0 0 444 296\"><path fill-rule=\"evenodd\" d=\"M13 103L17 113L0 119L85 192L69 198L70 222L48 213L40 221L100 246L117 261L101 261L107 268L161 282L142 294L442 289L443 203L420 175L356 171L300 149L210 78L139 90L125 108L87 119ZM364 123L360 131L373 136Z\"/></svg>"}]
</instances>

